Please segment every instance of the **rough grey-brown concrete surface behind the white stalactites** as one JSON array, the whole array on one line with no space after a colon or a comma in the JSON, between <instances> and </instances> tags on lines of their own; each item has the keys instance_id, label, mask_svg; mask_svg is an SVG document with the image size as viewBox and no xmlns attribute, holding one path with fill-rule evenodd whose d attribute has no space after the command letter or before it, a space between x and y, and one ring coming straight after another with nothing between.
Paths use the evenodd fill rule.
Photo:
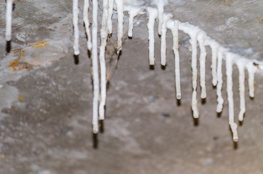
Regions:
<instances>
[{"instance_id":1,"label":"rough grey-brown concrete surface behind the white stalactites","mask_svg":"<svg viewBox=\"0 0 263 174\"><path fill-rule=\"evenodd\" d=\"M116 34L109 40L106 120L103 133L94 137L91 59L82 23L81 54L73 57L71 3L15 0L13 39L6 45L5 2L0 2L0 174L263 174L262 73L256 76L255 99L249 98L246 84L247 112L238 128L240 140L234 144L225 74L224 109L216 113L210 49L208 97L203 102L199 97L200 118L194 120L189 37L179 36L182 99L177 101L171 33L167 66L162 69L155 28L156 65L149 68L144 15L134 21L132 39L126 32L117 64ZM80 13L82 5L80 0ZM262 9L262 0L171 0L165 11L200 26L232 51L263 60ZM115 33L116 26L114 22ZM235 67L236 117L237 75Z\"/></svg>"}]
</instances>

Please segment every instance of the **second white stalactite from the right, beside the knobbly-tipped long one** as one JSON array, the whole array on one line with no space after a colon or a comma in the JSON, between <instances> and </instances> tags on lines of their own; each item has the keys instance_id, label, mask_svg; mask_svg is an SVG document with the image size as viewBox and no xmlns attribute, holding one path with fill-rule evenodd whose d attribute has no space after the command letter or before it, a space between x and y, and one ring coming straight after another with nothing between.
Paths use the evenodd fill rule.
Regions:
<instances>
[{"instance_id":1,"label":"second white stalactite from the right, beside the knobbly-tipped long one","mask_svg":"<svg viewBox=\"0 0 263 174\"><path fill-rule=\"evenodd\" d=\"M237 65L238 70L239 70L239 98L240 98L239 121L243 121L244 114L246 112L246 103L245 103L245 62L243 60L236 61L236 65Z\"/></svg>"}]
</instances>

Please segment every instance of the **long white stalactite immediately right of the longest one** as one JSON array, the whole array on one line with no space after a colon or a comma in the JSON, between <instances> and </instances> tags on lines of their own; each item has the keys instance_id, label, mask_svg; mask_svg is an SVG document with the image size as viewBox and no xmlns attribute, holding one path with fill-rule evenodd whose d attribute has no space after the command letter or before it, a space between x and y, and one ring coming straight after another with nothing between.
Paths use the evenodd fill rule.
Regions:
<instances>
[{"instance_id":1,"label":"long white stalactite immediately right of the longest one","mask_svg":"<svg viewBox=\"0 0 263 174\"><path fill-rule=\"evenodd\" d=\"M105 104L106 104L106 64L105 64L105 49L107 45L107 17L108 17L108 0L103 0L103 14L102 14L102 27L101 27L101 46L100 46L100 68L101 68L101 100L99 106L100 120L105 117Z\"/></svg>"}]
</instances>

